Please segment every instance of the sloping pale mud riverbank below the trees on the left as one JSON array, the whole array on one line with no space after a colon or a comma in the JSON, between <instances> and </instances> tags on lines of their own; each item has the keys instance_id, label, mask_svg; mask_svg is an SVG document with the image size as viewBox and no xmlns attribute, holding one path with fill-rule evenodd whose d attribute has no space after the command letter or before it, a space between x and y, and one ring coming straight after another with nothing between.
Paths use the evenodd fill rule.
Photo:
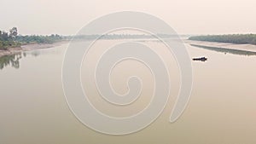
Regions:
<instances>
[{"instance_id":1,"label":"sloping pale mud riverbank below the trees on the left","mask_svg":"<svg viewBox=\"0 0 256 144\"><path fill-rule=\"evenodd\" d=\"M20 47L16 48L9 48L7 50L2 50L0 49L0 57L3 55L14 55L23 51L29 51L29 50L34 50L34 49L48 49L48 48L53 48L55 46L59 46L63 43L67 43L68 41L61 41L61 42L56 42L56 43L32 43L32 44L26 44L26 45L21 45Z\"/></svg>"}]
</instances>

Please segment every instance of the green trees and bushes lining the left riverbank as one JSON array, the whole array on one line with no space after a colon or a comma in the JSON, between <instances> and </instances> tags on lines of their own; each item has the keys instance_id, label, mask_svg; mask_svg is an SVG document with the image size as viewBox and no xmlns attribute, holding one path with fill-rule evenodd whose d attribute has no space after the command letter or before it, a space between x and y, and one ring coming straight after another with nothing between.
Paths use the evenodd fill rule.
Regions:
<instances>
[{"instance_id":1,"label":"green trees and bushes lining the left riverbank","mask_svg":"<svg viewBox=\"0 0 256 144\"><path fill-rule=\"evenodd\" d=\"M55 43L56 41L61 41L63 38L57 34L49 36L22 36L18 35L17 27L13 27L9 32L0 31L0 49L20 47L20 45L27 43Z\"/></svg>"}]
</instances>

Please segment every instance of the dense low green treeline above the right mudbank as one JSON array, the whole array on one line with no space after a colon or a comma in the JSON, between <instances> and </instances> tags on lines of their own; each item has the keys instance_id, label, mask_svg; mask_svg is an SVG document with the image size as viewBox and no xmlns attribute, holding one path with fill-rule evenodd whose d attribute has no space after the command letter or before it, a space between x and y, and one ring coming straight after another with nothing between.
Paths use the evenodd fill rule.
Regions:
<instances>
[{"instance_id":1,"label":"dense low green treeline above the right mudbank","mask_svg":"<svg viewBox=\"0 0 256 144\"><path fill-rule=\"evenodd\" d=\"M256 34L195 36L189 37L189 40L218 43L256 44Z\"/></svg>"}]
</instances>

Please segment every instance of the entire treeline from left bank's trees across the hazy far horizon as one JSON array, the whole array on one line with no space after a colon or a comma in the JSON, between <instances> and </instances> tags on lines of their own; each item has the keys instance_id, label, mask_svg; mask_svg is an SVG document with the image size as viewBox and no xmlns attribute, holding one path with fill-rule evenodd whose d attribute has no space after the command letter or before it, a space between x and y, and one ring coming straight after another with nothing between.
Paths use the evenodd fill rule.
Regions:
<instances>
[{"instance_id":1,"label":"entire treeline from left bank's trees across the hazy far horizon","mask_svg":"<svg viewBox=\"0 0 256 144\"><path fill-rule=\"evenodd\" d=\"M177 35L156 34L160 38L177 38ZM189 37L181 35L180 37ZM51 34L49 36L39 35L19 35L17 27L13 27L9 32L0 31L0 49L9 49L20 47L23 44L29 43L55 43L62 40L92 40L92 39L137 39L137 38L156 38L153 35L147 34L106 34L106 35L77 35L77 36L60 36Z\"/></svg>"}]
</instances>

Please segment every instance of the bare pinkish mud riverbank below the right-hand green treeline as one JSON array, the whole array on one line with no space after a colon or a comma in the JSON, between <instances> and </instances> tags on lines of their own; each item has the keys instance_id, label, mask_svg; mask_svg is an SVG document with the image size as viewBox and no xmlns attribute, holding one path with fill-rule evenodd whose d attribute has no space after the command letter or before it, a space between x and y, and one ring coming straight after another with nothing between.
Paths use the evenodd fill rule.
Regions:
<instances>
[{"instance_id":1,"label":"bare pinkish mud riverbank below the right-hand green treeline","mask_svg":"<svg viewBox=\"0 0 256 144\"><path fill-rule=\"evenodd\" d=\"M233 49L256 53L256 45L253 44L234 44L234 43L217 43L217 42L206 42L206 41L195 41L195 40L184 40L185 43L200 47L215 47L219 49Z\"/></svg>"}]
</instances>

